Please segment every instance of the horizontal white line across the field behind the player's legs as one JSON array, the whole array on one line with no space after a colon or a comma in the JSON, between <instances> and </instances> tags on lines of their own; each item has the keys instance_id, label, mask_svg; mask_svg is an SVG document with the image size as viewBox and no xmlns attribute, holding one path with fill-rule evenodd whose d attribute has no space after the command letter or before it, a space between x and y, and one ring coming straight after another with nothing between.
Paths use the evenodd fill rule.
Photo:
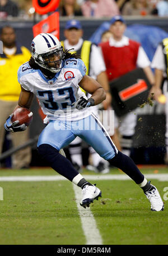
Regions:
<instances>
[{"instance_id":1,"label":"horizontal white line across the field behind the player's legs","mask_svg":"<svg viewBox=\"0 0 168 256\"><path fill-rule=\"evenodd\" d=\"M1 172L0 172L1 174ZM125 174L101 174L101 175L83 175L85 179L88 181L101 181L101 180L117 180L117 181L125 181L131 180ZM158 181L168 181L168 174L144 174L147 179L158 179ZM0 182L3 181L67 181L66 178L60 175L53 176L1 176Z\"/></svg>"}]
</instances>

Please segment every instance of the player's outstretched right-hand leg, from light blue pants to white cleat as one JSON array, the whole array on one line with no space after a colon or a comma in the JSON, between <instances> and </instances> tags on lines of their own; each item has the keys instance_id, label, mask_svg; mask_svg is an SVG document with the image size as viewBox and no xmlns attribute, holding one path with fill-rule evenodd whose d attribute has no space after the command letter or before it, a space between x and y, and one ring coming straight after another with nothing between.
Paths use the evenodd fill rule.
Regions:
<instances>
[{"instance_id":1,"label":"player's outstretched right-hand leg, from light blue pants to white cleat","mask_svg":"<svg viewBox=\"0 0 168 256\"><path fill-rule=\"evenodd\" d=\"M134 161L129 156L118 151L111 141L109 134L105 131L100 121L93 114L89 116L92 127L95 124L95 131L83 131L81 137L86 140L104 159L108 160L111 165L125 172L130 178L142 188L144 194L151 203L151 210L160 211L164 209L164 204L157 191L157 188L147 182L147 179L140 172Z\"/></svg>"}]
</instances>

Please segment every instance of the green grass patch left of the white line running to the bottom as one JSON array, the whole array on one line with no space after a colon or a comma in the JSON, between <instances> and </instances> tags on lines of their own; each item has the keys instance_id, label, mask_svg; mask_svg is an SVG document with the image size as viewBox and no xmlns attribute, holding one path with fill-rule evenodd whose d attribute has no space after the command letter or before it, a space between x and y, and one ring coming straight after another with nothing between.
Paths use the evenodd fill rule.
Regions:
<instances>
[{"instance_id":1,"label":"green grass patch left of the white line running to the bottom","mask_svg":"<svg viewBox=\"0 0 168 256\"><path fill-rule=\"evenodd\" d=\"M1 186L0 244L85 242L71 183L3 182Z\"/></svg>"}]
</instances>

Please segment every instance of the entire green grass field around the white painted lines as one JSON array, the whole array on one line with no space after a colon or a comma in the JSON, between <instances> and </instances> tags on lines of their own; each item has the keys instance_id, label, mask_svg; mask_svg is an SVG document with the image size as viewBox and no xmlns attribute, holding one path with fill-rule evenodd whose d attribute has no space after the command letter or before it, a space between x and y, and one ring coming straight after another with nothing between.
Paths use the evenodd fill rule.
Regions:
<instances>
[{"instance_id":1,"label":"entire green grass field around the white painted lines","mask_svg":"<svg viewBox=\"0 0 168 256\"><path fill-rule=\"evenodd\" d=\"M167 174L166 167L141 167L144 174L155 174L151 183L163 198L167 181L160 181L158 174ZM111 169L110 174L124 174ZM91 204L104 245L168 245L168 210L164 200L163 212L151 212L150 203L143 191L132 180L107 179L102 174L90 181L102 190L102 198ZM56 181L2 181L3 177L57 176ZM85 245L73 185L59 180L52 169L0 170L0 244L29 245ZM167 198L168 199L168 198ZM83 209L83 208L82 208ZM83 209L88 210L88 209ZM87 218L86 218L87 219Z\"/></svg>"}]
</instances>

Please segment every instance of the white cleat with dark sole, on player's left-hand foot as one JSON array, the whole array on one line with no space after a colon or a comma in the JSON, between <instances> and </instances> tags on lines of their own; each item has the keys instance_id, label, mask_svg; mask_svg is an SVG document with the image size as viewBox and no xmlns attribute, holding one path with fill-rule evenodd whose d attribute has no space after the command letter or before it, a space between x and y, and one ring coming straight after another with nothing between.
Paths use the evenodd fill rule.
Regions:
<instances>
[{"instance_id":1,"label":"white cleat with dark sole, on player's left-hand foot","mask_svg":"<svg viewBox=\"0 0 168 256\"><path fill-rule=\"evenodd\" d=\"M95 184L96 185L96 184ZM89 186L86 185L82 189L82 200L80 202L80 205L84 208L89 207L91 203L94 202L94 200L98 200L99 196L101 197L101 190L96 187L95 185Z\"/></svg>"}]
</instances>

